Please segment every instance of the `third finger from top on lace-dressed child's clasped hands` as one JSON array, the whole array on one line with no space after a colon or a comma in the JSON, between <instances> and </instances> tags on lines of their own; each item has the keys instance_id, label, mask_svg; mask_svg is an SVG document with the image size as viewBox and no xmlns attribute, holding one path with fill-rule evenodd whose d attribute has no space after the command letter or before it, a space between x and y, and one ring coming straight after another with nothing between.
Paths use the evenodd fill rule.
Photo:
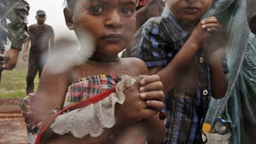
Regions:
<instances>
[{"instance_id":1,"label":"third finger from top on lace-dressed child's clasped hands","mask_svg":"<svg viewBox=\"0 0 256 144\"><path fill-rule=\"evenodd\" d=\"M140 98L142 98L142 100L158 100L162 102L164 102L164 96L163 91L142 92L140 94Z\"/></svg>"}]
</instances>

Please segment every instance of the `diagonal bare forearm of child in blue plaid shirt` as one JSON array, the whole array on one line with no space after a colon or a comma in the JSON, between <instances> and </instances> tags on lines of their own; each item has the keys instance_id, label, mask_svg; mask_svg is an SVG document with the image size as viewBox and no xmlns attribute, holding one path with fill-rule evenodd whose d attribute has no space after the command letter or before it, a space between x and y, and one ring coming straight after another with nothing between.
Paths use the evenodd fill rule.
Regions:
<instances>
[{"instance_id":1,"label":"diagonal bare forearm of child in blue plaid shirt","mask_svg":"<svg viewBox=\"0 0 256 144\"><path fill-rule=\"evenodd\" d=\"M187 69L187 66L193 59L196 52L209 43L211 35L201 28L201 23L197 24L189 39L184 43L183 47L174 56L171 62L163 68L163 66L155 66L149 68L151 74L157 74L164 84L164 92L168 92L174 87L179 79L180 73Z\"/></svg>"}]
</instances>

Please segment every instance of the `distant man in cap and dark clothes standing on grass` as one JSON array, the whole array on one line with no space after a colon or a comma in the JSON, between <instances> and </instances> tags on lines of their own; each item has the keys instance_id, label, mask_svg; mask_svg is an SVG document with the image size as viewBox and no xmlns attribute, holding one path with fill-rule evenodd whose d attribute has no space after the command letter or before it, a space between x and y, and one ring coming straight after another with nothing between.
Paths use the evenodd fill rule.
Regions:
<instances>
[{"instance_id":1,"label":"distant man in cap and dark clothes standing on grass","mask_svg":"<svg viewBox=\"0 0 256 144\"><path fill-rule=\"evenodd\" d=\"M50 49L55 45L55 34L50 25L45 24L46 12L39 10L36 13L37 24L28 27L29 38L24 44L23 59L27 59L27 49L31 41L30 53L28 57L28 73L27 73L27 94L34 91L34 78L39 72L43 70L44 63L46 63Z\"/></svg>"}]
</instances>

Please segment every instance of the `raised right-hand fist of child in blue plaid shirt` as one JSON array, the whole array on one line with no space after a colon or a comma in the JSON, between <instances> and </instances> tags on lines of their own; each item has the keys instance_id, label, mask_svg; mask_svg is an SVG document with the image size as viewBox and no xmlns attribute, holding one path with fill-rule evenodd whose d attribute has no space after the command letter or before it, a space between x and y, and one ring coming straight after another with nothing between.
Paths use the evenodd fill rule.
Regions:
<instances>
[{"instance_id":1,"label":"raised right-hand fist of child in blue plaid shirt","mask_svg":"<svg viewBox=\"0 0 256 144\"><path fill-rule=\"evenodd\" d=\"M213 34L213 39L209 43L207 53L212 55L216 50L224 47L228 42L228 36L223 30L222 25L219 24L216 17L209 17L201 21L201 27Z\"/></svg>"}]
</instances>

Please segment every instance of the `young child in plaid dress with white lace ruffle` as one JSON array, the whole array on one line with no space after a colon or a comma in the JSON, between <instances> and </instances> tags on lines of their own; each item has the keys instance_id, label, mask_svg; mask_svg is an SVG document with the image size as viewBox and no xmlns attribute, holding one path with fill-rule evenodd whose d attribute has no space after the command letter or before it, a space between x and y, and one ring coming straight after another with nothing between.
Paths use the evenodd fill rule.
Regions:
<instances>
[{"instance_id":1,"label":"young child in plaid dress with white lace ruffle","mask_svg":"<svg viewBox=\"0 0 256 144\"><path fill-rule=\"evenodd\" d=\"M68 110L50 121L49 127L59 135L40 133L36 142L143 143L145 133L148 142L161 142L164 123L157 113L163 108L164 92L159 76L146 76L148 69L140 59L118 57L135 33L136 1L68 0L67 5L66 25L78 40L91 33L95 52L61 73L52 73L49 65L58 63L47 61L33 102L35 121L45 121L58 108ZM94 102L76 107L87 100Z\"/></svg>"}]
</instances>

